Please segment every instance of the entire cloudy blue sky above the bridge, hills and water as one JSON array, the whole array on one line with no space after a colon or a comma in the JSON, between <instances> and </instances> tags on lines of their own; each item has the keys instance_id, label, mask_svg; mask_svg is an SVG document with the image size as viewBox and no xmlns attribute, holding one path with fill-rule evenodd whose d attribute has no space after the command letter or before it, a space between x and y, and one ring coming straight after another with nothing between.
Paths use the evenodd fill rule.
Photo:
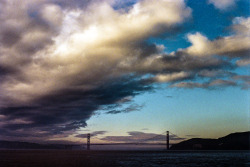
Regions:
<instances>
[{"instance_id":1,"label":"entire cloudy blue sky above the bridge, hills and water","mask_svg":"<svg viewBox=\"0 0 250 167\"><path fill-rule=\"evenodd\" d=\"M249 3L0 0L0 140L249 131Z\"/></svg>"}]
</instances>

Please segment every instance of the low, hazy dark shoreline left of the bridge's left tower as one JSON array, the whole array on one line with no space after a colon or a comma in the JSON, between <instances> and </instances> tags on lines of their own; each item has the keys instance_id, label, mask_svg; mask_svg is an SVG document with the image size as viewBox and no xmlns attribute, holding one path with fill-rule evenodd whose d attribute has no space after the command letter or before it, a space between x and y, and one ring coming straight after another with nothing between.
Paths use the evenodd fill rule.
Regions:
<instances>
[{"instance_id":1,"label":"low, hazy dark shoreline left of the bridge's left tower","mask_svg":"<svg viewBox=\"0 0 250 167\"><path fill-rule=\"evenodd\" d=\"M79 145L37 144L19 141L0 141L0 149L77 149Z\"/></svg>"}]
</instances>

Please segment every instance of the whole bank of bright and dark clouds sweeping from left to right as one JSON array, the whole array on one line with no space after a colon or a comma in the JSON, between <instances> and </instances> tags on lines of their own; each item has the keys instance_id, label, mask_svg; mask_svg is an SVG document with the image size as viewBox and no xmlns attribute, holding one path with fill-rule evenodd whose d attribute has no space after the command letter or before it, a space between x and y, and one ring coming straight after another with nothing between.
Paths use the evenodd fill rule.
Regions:
<instances>
[{"instance_id":1,"label":"whole bank of bright and dark clouds sweeping from left to right","mask_svg":"<svg viewBox=\"0 0 250 167\"><path fill-rule=\"evenodd\" d=\"M236 86L230 77L237 74L229 75L227 69L249 64L249 18L235 18L232 35L220 39L188 34L191 46L171 54L162 45L148 43L150 37L171 33L192 17L183 0L141 0L126 10L115 8L116 1L0 3L4 139L68 136L85 127L96 110L131 101L153 90L154 84ZM192 81L197 78L208 81ZM245 80L239 80L246 86ZM138 108L131 105L107 113Z\"/></svg>"}]
</instances>

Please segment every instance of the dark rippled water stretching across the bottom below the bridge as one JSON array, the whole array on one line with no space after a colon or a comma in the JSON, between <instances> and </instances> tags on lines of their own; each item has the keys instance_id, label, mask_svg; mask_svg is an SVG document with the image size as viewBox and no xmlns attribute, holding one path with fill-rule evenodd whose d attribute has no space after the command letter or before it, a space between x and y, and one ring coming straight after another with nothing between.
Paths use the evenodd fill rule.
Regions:
<instances>
[{"instance_id":1,"label":"dark rippled water stretching across the bottom below the bridge","mask_svg":"<svg viewBox=\"0 0 250 167\"><path fill-rule=\"evenodd\" d=\"M1 150L0 167L250 167L250 151Z\"/></svg>"}]
</instances>

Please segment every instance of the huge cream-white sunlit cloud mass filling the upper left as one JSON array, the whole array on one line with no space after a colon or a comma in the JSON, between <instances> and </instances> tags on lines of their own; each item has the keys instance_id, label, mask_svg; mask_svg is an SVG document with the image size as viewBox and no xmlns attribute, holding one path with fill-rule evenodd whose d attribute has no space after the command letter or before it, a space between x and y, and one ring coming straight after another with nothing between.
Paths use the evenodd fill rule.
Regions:
<instances>
[{"instance_id":1,"label":"huge cream-white sunlit cloud mass filling the upper left","mask_svg":"<svg viewBox=\"0 0 250 167\"><path fill-rule=\"evenodd\" d=\"M19 103L30 103L66 88L90 90L110 77L123 75L118 65L139 56L141 42L191 15L183 0L143 0L125 13L103 1L93 2L84 10L64 11L40 2L37 18L32 18L27 15L30 3L18 8L16 13L23 14L21 19L13 17L13 24L23 25L18 26L23 27L17 31L19 41L0 48L2 65L15 69L20 64L19 77L9 75L0 85L6 97ZM6 8L11 5L8 3ZM11 16L12 11L1 12L1 16L7 15ZM2 24L8 25L9 19L3 20ZM31 23L35 26L28 26ZM15 61L10 61L14 57Z\"/></svg>"}]
</instances>

